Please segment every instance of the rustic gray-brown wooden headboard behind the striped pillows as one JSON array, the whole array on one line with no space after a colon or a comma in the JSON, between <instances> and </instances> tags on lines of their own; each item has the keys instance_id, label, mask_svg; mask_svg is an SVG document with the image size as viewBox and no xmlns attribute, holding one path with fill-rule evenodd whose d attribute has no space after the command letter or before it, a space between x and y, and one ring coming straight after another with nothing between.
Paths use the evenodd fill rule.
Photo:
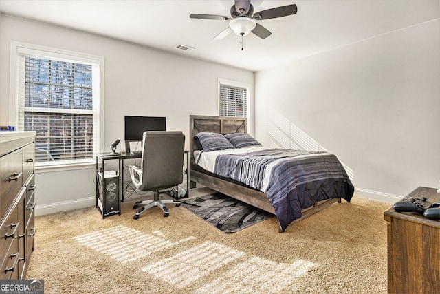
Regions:
<instances>
[{"instance_id":1,"label":"rustic gray-brown wooden headboard behind the striped pillows","mask_svg":"<svg viewBox=\"0 0 440 294\"><path fill-rule=\"evenodd\" d=\"M190 115L190 158L197 150L194 136L200 132L220 134L247 133L248 118L235 116L194 116Z\"/></svg>"}]
</instances>

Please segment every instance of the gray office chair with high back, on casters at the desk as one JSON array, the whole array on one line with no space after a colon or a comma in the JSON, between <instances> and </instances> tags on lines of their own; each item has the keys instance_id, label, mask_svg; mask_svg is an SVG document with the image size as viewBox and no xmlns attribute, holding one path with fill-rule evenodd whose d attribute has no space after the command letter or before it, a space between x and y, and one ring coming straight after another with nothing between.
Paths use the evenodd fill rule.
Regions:
<instances>
[{"instance_id":1,"label":"gray office chair with high back, on casters at the desk","mask_svg":"<svg viewBox=\"0 0 440 294\"><path fill-rule=\"evenodd\" d=\"M183 181L185 135L182 132L144 132L142 138L141 167L130 165L129 171L133 184L141 191L154 191L153 200L138 201L133 206L137 209L135 220L140 213L151 207L160 207L164 216L170 211L166 203L180 205L176 200L160 200L160 190L175 187Z\"/></svg>"}]
</instances>

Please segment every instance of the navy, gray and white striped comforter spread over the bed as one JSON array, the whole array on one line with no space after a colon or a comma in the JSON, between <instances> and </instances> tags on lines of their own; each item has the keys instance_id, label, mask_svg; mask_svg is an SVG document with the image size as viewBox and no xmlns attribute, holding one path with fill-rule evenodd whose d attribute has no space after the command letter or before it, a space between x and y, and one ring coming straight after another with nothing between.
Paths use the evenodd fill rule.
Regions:
<instances>
[{"instance_id":1,"label":"navy, gray and white striped comforter spread over the bed","mask_svg":"<svg viewBox=\"0 0 440 294\"><path fill-rule=\"evenodd\" d=\"M353 196L353 185L333 154L322 151L249 147L201 151L197 165L267 194L285 230L315 202Z\"/></svg>"}]
</instances>

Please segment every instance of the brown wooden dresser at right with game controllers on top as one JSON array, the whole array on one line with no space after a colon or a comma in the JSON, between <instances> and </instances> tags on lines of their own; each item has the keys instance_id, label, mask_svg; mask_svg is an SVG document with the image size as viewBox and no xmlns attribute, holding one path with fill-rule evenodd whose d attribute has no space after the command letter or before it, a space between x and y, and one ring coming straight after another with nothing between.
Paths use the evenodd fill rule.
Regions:
<instances>
[{"instance_id":1,"label":"brown wooden dresser at right with game controllers on top","mask_svg":"<svg viewBox=\"0 0 440 294\"><path fill-rule=\"evenodd\" d=\"M418 187L409 197L440 202L436 189ZM440 220L417 213L384 212L388 222L388 293L440 293Z\"/></svg>"}]
</instances>

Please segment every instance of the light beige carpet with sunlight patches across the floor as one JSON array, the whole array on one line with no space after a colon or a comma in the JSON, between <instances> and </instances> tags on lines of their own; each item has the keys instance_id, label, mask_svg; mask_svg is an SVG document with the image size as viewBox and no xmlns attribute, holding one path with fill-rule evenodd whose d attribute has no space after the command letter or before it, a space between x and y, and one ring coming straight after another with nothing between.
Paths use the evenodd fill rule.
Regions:
<instances>
[{"instance_id":1,"label":"light beige carpet with sunlight patches across the floor","mask_svg":"<svg viewBox=\"0 0 440 294\"><path fill-rule=\"evenodd\" d=\"M386 293L390 204L354 197L285 233L270 218L224 234L174 205L133 220L133 201L104 220L95 207L36 217L27 278L45 293Z\"/></svg>"}]
</instances>

